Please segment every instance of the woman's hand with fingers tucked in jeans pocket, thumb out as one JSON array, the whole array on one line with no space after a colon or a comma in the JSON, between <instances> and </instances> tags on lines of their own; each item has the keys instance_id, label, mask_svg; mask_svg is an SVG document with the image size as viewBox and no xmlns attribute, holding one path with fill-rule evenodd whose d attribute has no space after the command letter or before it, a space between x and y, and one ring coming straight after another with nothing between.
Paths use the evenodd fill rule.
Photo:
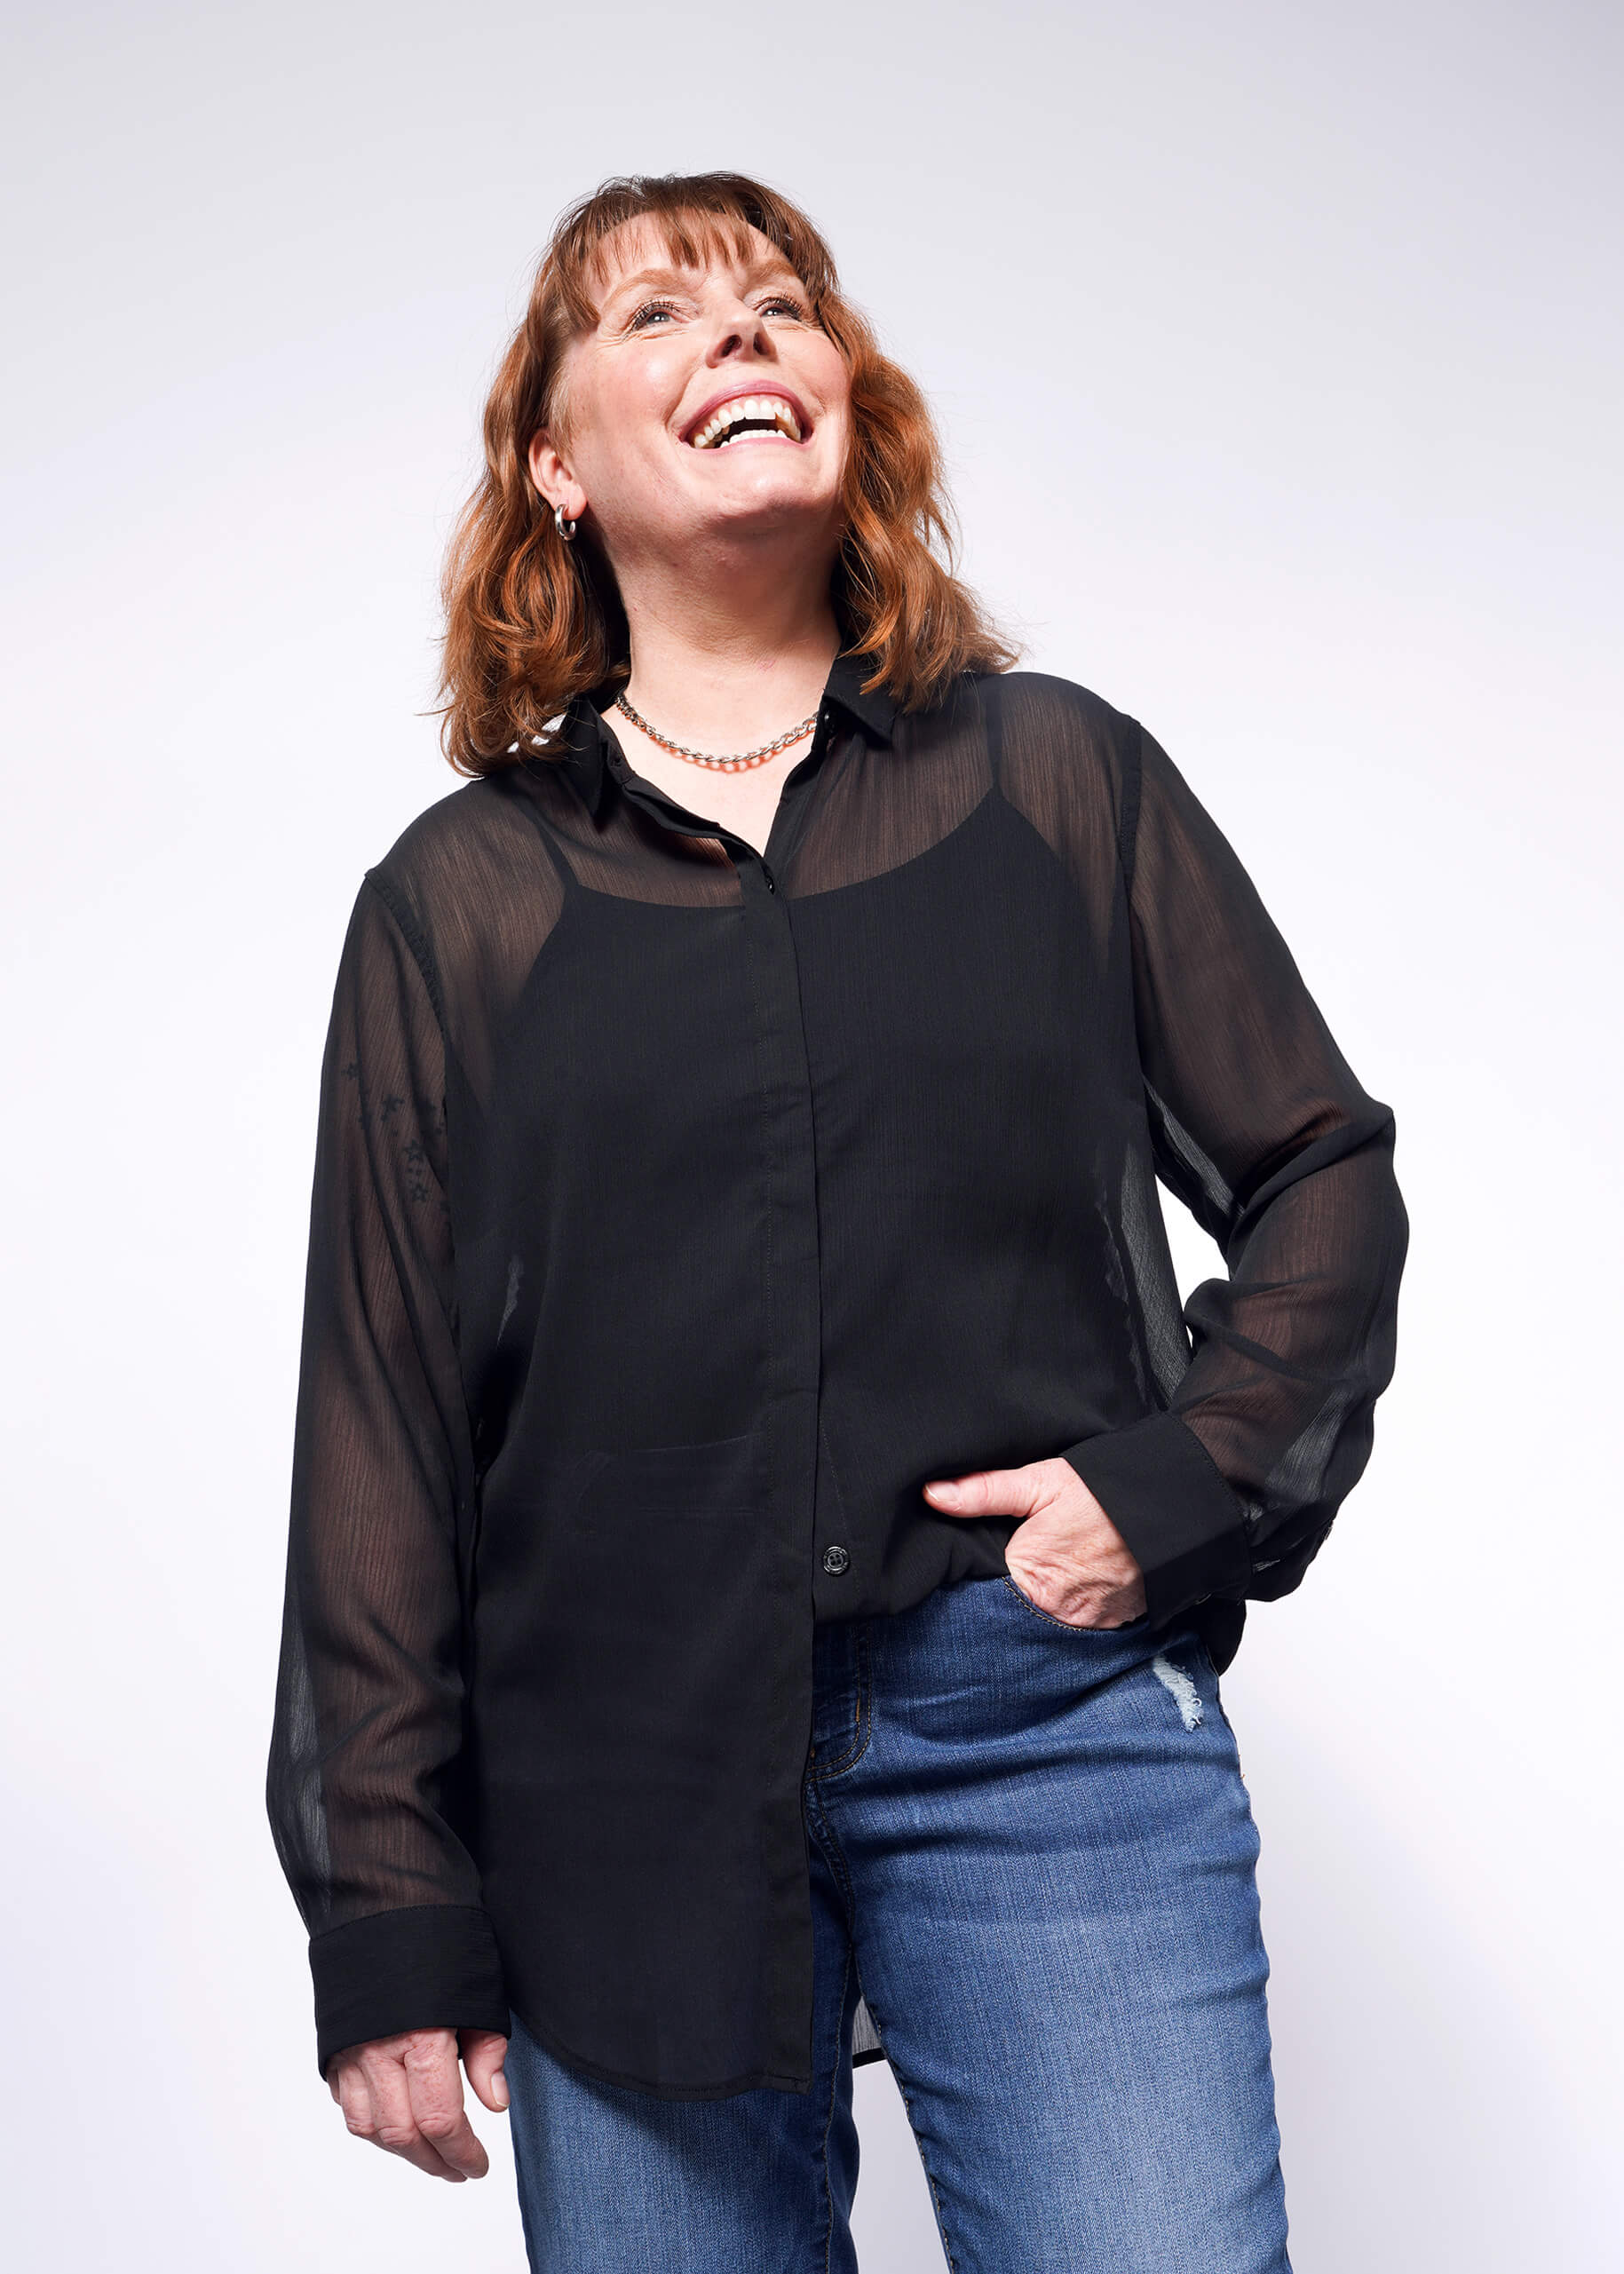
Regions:
<instances>
[{"instance_id":1,"label":"woman's hand with fingers tucked in jeans pocket, thumb out","mask_svg":"<svg viewBox=\"0 0 1624 2274\"><path fill-rule=\"evenodd\" d=\"M944 1517L1021 1517L1005 1562L1021 1594L1067 1626L1126 1626L1144 1603L1144 1574L1069 1460L973 1469L926 1485Z\"/></svg>"}]
</instances>

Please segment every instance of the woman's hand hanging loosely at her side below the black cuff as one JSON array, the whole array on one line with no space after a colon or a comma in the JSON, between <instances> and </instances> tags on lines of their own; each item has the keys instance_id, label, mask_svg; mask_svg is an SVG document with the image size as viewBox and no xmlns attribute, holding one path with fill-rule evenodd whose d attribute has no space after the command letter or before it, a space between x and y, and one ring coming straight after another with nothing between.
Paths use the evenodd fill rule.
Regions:
<instances>
[{"instance_id":1,"label":"woman's hand hanging loosely at her side below the black cuff","mask_svg":"<svg viewBox=\"0 0 1624 2274\"><path fill-rule=\"evenodd\" d=\"M430 2178L484 2178L491 2158L462 2106L462 2074L496 2115L507 2108L507 2038L494 2028L407 2028L348 2044L328 2063L328 2090L357 2140L405 2156Z\"/></svg>"}]
</instances>

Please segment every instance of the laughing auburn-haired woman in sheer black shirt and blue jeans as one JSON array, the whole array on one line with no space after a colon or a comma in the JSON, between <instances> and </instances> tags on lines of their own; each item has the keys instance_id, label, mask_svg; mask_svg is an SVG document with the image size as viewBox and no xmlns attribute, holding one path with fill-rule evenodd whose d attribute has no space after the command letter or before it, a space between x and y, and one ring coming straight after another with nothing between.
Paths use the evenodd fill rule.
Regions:
<instances>
[{"instance_id":1,"label":"laughing auburn-haired woman in sheer black shirt and blue jeans","mask_svg":"<svg viewBox=\"0 0 1624 2274\"><path fill-rule=\"evenodd\" d=\"M323 1069L323 2074L441 2178L512 2094L537 2267L851 2267L880 2051L953 2267L1287 2267L1217 1676L1369 1453L1392 1114L1160 746L1010 671L787 200L585 200L484 439L471 780Z\"/></svg>"}]
</instances>

